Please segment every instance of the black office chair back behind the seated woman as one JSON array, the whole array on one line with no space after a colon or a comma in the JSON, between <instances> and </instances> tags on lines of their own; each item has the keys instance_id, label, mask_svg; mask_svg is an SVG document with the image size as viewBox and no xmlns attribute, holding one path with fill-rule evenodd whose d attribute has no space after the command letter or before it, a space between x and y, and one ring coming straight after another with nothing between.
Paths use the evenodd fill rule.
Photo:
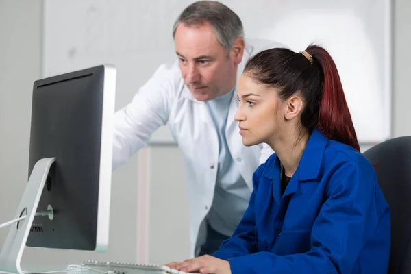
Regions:
<instances>
[{"instance_id":1,"label":"black office chair back behind the seated woman","mask_svg":"<svg viewBox=\"0 0 411 274\"><path fill-rule=\"evenodd\" d=\"M391 210L388 273L411 273L411 136L386 140L364 155L375 166Z\"/></svg>"}]
</instances>

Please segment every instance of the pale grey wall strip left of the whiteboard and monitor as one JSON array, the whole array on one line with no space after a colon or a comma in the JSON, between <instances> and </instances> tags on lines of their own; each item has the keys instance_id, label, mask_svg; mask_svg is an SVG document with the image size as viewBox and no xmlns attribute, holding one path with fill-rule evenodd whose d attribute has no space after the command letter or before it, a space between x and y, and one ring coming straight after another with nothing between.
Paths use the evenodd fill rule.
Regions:
<instances>
[{"instance_id":1,"label":"pale grey wall strip left of the whiteboard and monitor","mask_svg":"<svg viewBox=\"0 0 411 274\"><path fill-rule=\"evenodd\" d=\"M1 223L14 216L28 177L31 94L40 76L40 10L40 1L0 1ZM0 230L1 246L7 231Z\"/></svg>"}]
</instances>

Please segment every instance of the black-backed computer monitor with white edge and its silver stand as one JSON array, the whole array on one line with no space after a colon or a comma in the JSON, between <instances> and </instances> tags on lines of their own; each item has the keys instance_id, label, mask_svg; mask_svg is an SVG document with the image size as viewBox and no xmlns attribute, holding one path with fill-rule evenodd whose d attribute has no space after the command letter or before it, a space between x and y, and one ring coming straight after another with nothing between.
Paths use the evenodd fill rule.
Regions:
<instances>
[{"instance_id":1,"label":"black-backed computer monitor with white edge and its silver stand","mask_svg":"<svg viewBox=\"0 0 411 274\"><path fill-rule=\"evenodd\" d=\"M29 182L15 215L27 218L10 227L0 271L22 272L25 245L107 249L115 90L111 65L34 82Z\"/></svg>"}]
</instances>

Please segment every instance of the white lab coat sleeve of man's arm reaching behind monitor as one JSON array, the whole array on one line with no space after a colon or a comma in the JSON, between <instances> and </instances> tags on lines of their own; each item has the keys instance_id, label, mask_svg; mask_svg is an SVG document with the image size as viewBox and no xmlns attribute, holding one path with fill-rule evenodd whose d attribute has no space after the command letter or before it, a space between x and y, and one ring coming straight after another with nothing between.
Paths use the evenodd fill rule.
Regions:
<instances>
[{"instance_id":1,"label":"white lab coat sleeve of man's arm reaching behind monitor","mask_svg":"<svg viewBox=\"0 0 411 274\"><path fill-rule=\"evenodd\" d=\"M114 116L113 164L125 164L139 149L145 147L151 134L169 120L175 69L162 65L134 95L131 103Z\"/></svg>"}]
</instances>

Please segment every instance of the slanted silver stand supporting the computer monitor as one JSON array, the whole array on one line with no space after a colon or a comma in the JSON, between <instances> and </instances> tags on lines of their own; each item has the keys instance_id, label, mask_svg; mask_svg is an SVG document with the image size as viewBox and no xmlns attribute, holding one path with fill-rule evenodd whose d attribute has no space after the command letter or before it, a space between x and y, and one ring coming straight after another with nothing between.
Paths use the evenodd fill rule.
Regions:
<instances>
[{"instance_id":1,"label":"slanted silver stand supporting the computer monitor","mask_svg":"<svg viewBox=\"0 0 411 274\"><path fill-rule=\"evenodd\" d=\"M0 253L0 272L25 273L20 265L21 256L53 162L55 162L55 158L44 158L38 160L34 165L29 182L18 205L16 215L14 215L15 219L25 215L27 217L25 220L10 226L8 236Z\"/></svg>"}]
</instances>

